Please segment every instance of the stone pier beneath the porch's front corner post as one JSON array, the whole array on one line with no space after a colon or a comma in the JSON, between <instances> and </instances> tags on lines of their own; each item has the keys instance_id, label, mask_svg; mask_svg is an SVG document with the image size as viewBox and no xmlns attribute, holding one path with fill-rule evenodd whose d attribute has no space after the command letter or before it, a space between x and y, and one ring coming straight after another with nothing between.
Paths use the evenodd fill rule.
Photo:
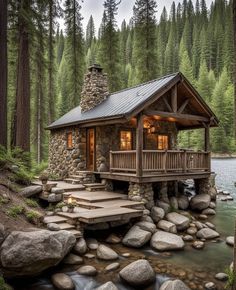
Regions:
<instances>
[{"instance_id":1,"label":"stone pier beneath the porch's front corner post","mask_svg":"<svg viewBox=\"0 0 236 290\"><path fill-rule=\"evenodd\" d=\"M147 209L154 206L152 183L130 183L128 197L133 201L142 201Z\"/></svg>"}]
</instances>

